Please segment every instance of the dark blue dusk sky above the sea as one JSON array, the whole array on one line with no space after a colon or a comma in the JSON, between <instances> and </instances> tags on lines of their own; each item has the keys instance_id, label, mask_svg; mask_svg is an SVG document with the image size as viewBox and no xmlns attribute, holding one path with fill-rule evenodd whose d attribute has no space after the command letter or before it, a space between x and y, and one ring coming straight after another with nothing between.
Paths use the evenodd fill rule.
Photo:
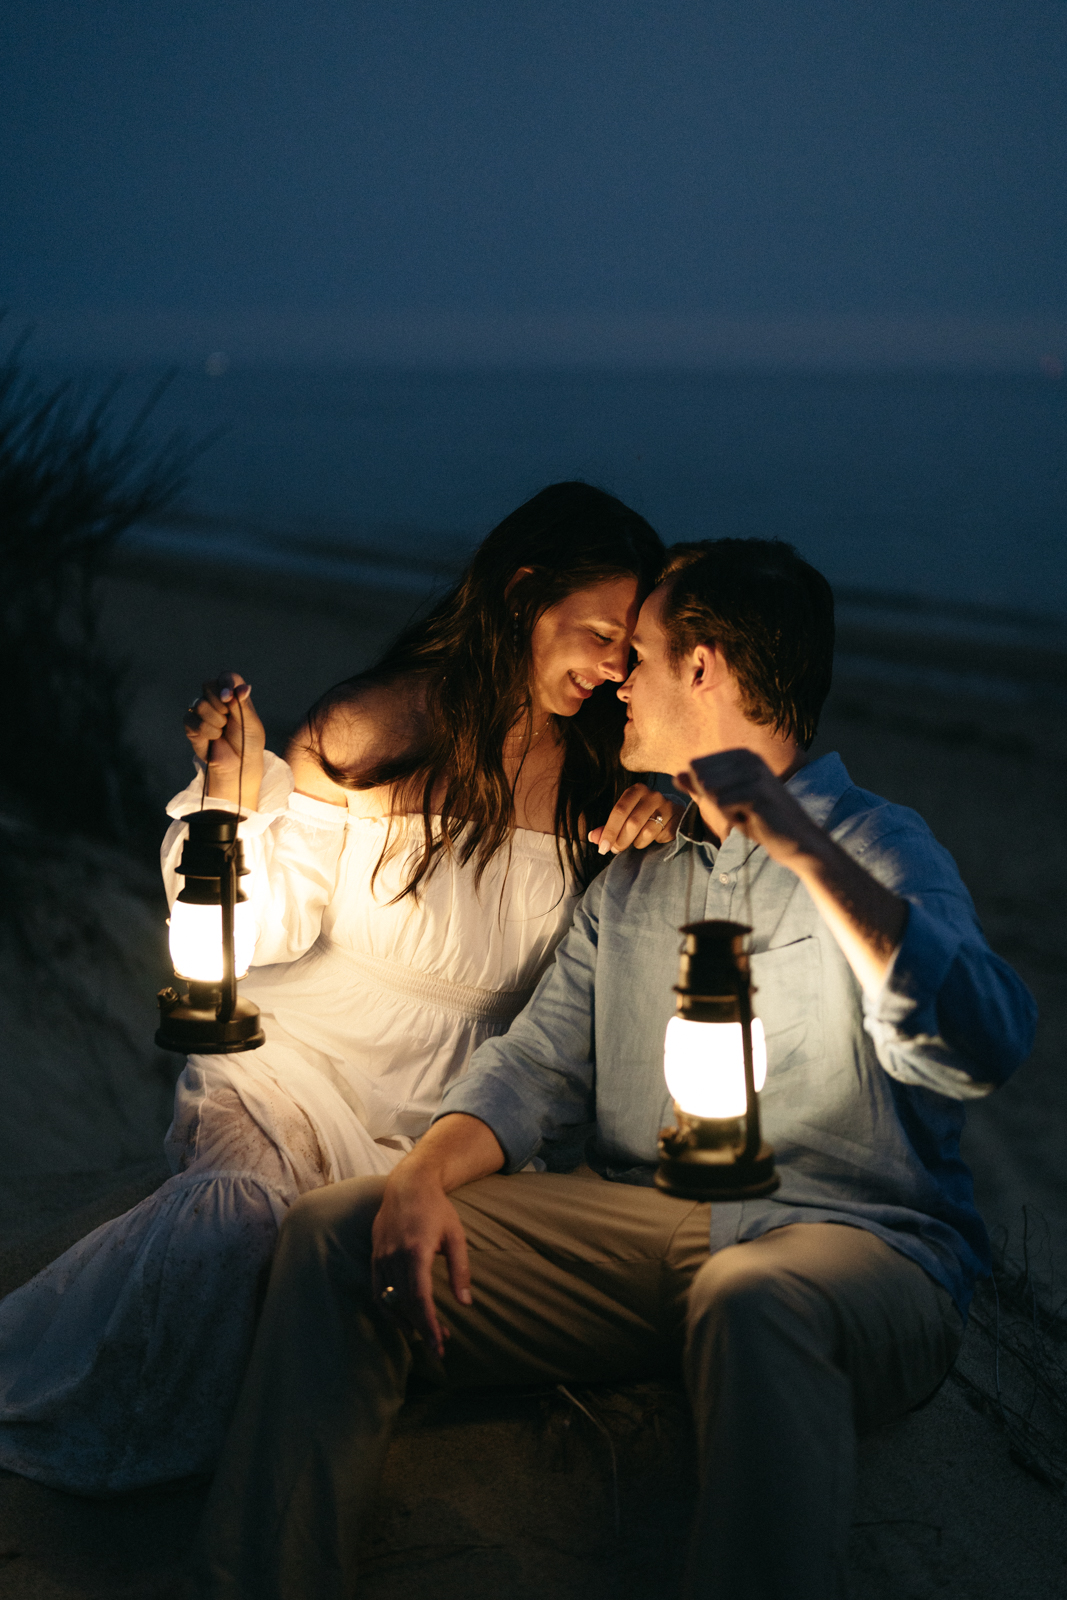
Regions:
<instances>
[{"instance_id":1,"label":"dark blue dusk sky above the sea","mask_svg":"<svg viewBox=\"0 0 1067 1600\"><path fill-rule=\"evenodd\" d=\"M56 354L1067 354L1064 0L6 0Z\"/></svg>"}]
</instances>

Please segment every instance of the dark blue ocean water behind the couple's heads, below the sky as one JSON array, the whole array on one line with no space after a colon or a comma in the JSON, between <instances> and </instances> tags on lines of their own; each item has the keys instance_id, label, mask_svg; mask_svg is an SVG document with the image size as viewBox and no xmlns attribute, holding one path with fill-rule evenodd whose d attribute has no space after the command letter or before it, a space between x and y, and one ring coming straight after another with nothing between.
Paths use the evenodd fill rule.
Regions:
<instances>
[{"instance_id":1,"label":"dark blue ocean water behind the couple's heads, below the sky","mask_svg":"<svg viewBox=\"0 0 1067 1600\"><path fill-rule=\"evenodd\" d=\"M789 539L843 597L1067 626L1054 376L210 366L158 406L218 437L157 544L418 584L577 477L667 542Z\"/></svg>"}]
</instances>

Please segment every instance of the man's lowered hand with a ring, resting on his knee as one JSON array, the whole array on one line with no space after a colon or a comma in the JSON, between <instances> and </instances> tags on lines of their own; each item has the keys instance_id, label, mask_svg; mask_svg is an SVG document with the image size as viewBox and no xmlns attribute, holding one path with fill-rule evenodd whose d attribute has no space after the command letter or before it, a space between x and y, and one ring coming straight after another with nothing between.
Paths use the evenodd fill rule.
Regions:
<instances>
[{"instance_id":1,"label":"man's lowered hand with a ring, resting on his knee","mask_svg":"<svg viewBox=\"0 0 1067 1600\"><path fill-rule=\"evenodd\" d=\"M394 1166L374 1218L374 1294L397 1322L445 1354L448 1330L434 1306L434 1256L448 1258L448 1278L461 1306L470 1306L467 1240L451 1189L499 1173L504 1150L478 1117L453 1112ZM386 1294L386 1290L392 1290Z\"/></svg>"}]
</instances>

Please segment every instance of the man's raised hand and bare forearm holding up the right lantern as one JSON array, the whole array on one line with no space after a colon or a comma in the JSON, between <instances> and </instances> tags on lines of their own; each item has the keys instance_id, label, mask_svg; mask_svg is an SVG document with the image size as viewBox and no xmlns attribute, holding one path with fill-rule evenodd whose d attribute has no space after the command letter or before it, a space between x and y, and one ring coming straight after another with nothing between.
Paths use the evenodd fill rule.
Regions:
<instances>
[{"instance_id":1,"label":"man's raised hand and bare forearm holding up the right lantern","mask_svg":"<svg viewBox=\"0 0 1067 1600\"><path fill-rule=\"evenodd\" d=\"M864 989L873 992L885 982L907 928L907 901L813 822L755 750L702 755L675 784L693 795L720 837L737 827L797 874Z\"/></svg>"}]
</instances>

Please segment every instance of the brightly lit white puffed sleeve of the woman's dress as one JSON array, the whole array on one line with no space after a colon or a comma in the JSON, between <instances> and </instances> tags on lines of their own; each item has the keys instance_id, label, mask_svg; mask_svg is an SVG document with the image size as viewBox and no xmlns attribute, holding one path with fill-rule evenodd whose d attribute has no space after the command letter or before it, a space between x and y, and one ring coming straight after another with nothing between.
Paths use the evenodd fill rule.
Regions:
<instances>
[{"instance_id":1,"label":"brightly lit white puffed sleeve of the woman's dress","mask_svg":"<svg viewBox=\"0 0 1067 1600\"><path fill-rule=\"evenodd\" d=\"M186 818L198 811L203 765L194 781L166 808L173 818L162 846L166 899L174 902ZM206 802L213 810L237 811L230 800ZM256 966L293 962L318 938L322 915L338 883L347 824L347 808L312 800L293 790L293 773L270 750L264 752L264 778L256 811L243 808L240 838L248 877L242 886L256 914Z\"/></svg>"}]
</instances>

